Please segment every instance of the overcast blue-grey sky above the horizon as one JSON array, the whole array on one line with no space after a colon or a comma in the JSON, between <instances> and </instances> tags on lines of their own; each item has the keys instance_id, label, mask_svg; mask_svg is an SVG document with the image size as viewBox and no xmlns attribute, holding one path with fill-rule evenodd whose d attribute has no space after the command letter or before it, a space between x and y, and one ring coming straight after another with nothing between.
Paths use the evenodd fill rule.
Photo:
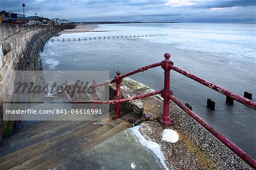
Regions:
<instances>
[{"instance_id":1,"label":"overcast blue-grey sky above the horizon","mask_svg":"<svg viewBox=\"0 0 256 170\"><path fill-rule=\"evenodd\" d=\"M0 0L0 10L81 21L256 22L256 0Z\"/></svg>"}]
</instances>

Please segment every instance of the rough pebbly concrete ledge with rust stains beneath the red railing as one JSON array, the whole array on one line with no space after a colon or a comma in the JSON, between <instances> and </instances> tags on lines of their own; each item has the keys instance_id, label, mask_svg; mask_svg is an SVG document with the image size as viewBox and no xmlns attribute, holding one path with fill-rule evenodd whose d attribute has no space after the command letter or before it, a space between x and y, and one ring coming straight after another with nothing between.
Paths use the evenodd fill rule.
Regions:
<instances>
[{"instance_id":1,"label":"rough pebbly concrete ledge with rust stains beneath the red railing","mask_svg":"<svg viewBox=\"0 0 256 170\"><path fill-rule=\"evenodd\" d=\"M125 78L121 85L122 97L154 91L131 78ZM114 91L115 85L110 85L110 89ZM167 128L179 134L179 141L176 143L167 143L162 140L164 128L156 119L163 114L163 99L160 96L129 101L124 105L127 110L139 115L143 112L153 115L150 121L141 124L140 131L144 138L160 144L170 169L251 169L174 102L170 102L170 110L171 118L176 123Z\"/></svg>"}]
</instances>

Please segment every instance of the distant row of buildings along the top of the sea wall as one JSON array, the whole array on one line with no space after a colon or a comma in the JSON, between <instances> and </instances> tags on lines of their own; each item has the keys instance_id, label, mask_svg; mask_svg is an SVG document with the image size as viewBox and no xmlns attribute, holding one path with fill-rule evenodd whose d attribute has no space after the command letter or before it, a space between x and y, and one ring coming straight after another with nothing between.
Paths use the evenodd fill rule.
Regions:
<instances>
[{"instance_id":1,"label":"distant row of buildings along the top of the sea wall","mask_svg":"<svg viewBox=\"0 0 256 170\"><path fill-rule=\"evenodd\" d=\"M26 24L26 25L59 25L59 24L69 24L70 22L65 19L59 18L43 18L43 16L24 16L22 14L16 14L12 12L1 11L0 23L15 23L15 24Z\"/></svg>"}]
</instances>

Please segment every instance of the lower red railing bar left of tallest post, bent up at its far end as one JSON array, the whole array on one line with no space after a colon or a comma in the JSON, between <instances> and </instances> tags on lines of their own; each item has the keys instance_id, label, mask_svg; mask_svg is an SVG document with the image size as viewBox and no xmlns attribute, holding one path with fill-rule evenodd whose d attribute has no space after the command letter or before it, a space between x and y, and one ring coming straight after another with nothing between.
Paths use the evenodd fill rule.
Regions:
<instances>
[{"instance_id":1,"label":"lower red railing bar left of tallest post, bent up at its far end","mask_svg":"<svg viewBox=\"0 0 256 170\"><path fill-rule=\"evenodd\" d=\"M134 99L141 99L141 98L145 98L145 97L154 96L156 94L160 94L161 90L155 91L155 92L151 92L151 93L139 94L138 96L129 97L129 98L113 99L113 100L110 100L110 101L96 101L96 100L72 101L72 99L69 97L68 93L65 90L64 90L64 92L67 95L69 101L71 101L72 103L109 103L109 104L116 104L116 103L123 103L123 102L131 101L131 100L134 100Z\"/></svg>"}]
</instances>

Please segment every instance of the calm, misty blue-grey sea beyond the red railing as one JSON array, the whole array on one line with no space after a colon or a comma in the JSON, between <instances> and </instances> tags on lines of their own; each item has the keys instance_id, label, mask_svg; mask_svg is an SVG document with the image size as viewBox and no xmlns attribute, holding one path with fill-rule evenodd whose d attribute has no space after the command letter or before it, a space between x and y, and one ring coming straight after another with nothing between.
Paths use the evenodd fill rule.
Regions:
<instances>
[{"instance_id":1,"label":"calm, misty blue-grey sea beyond the red railing","mask_svg":"<svg viewBox=\"0 0 256 170\"><path fill-rule=\"evenodd\" d=\"M255 101L255 26L249 23L102 24L97 30L120 31L83 32L53 37L54 42L49 41L41 54L43 69L108 70L112 78L118 70L127 73L144 65L158 63L164 59L164 53L168 52L176 67L241 96L245 91L250 92ZM140 37L134 38L134 35ZM98 36L101 36L100 40ZM97 39L94 40L94 37ZM66 40L57 42L57 38ZM68 38L86 38L86 41L68 42ZM160 90L163 89L163 76L163 69L154 68L131 78ZM255 159L255 110L236 101L234 106L227 105L222 94L174 71L171 72L171 89L176 98L189 103L195 113ZM207 109L207 98L216 102L214 111Z\"/></svg>"}]
</instances>

